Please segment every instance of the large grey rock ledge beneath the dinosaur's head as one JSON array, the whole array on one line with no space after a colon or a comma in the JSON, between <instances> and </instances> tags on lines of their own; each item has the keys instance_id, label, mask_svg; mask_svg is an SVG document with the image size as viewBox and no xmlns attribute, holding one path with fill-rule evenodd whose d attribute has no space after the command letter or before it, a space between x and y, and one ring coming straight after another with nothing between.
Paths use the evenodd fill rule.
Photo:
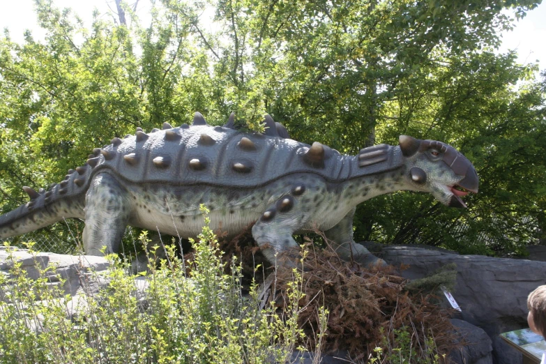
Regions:
<instances>
[{"instance_id":1,"label":"large grey rock ledge beneath the dinosaur's head","mask_svg":"<svg viewBox=\"0 0 546 364\"><path fill-rule=\"evenodd\" d=\"M457 318L483 328L490 336L494 363L522 362L521 354L502 342L499 334L527 327L527 296L546 284L546 262L457 255L409 246L386 246L379 256L394 266L409 265L400 274L411 280L455 263L457 283L452 293L462 309Z\"/></svg>"}]
</instances>

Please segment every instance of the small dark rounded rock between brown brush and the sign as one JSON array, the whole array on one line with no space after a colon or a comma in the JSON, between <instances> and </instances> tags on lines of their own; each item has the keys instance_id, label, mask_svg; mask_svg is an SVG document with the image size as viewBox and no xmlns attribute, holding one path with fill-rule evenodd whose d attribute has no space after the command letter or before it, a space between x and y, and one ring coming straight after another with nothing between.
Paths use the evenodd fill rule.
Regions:
<instances>
[{"instance_id":1,"label":"small dark rounded rock between brown brush and the sign","mask_svg":"<svg viewBox=\"0 0 546 364\"><path fill-rule=\"evenodd\" d=\"M491 339L483 329L460 319L451 319L457 328L464 347L453 351L450 359L457 364L492 364L493 347Z\"/></svg>"}]
</instances>

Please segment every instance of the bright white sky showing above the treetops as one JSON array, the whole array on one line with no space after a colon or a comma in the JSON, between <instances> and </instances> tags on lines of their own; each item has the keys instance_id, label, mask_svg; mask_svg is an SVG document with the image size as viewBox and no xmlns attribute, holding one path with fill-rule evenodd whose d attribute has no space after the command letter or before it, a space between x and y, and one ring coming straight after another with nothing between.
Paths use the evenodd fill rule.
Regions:
<instances>
[{"instance_id":1,"label":"bright white sky showing above the treetops","mask_svg":"<svg viewBox=\"0 0 546 364\"><path fill-rule=\"evenodd\" d=\"M138 1L137 15L145 24L149 19L150 1ZM44 37L43 31L36 24L33 3L33 0L0 0L0 29L7 27L11 38L17 42L23 40L25 29L30 29L36 40ZM110 8L116 8L114 0L54 0L54 4L60 8L73 8L86 26L91 24L94 8L99 10L102 17L110 19ZM503 32L501 36L503 43L498 52L517 50L520 63L539 63L540 70L546 70L546 1L517 21L513 31Z\"/></svg>"}]
</instances>

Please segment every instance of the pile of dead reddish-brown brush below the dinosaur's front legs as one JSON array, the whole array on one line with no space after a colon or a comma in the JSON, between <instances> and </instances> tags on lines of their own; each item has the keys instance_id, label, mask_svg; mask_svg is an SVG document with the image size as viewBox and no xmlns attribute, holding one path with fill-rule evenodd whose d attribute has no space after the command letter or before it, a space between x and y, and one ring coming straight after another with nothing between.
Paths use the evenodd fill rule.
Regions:
<instances>
[{"instance_id":1,"label":"pile of dead reddish-brown brush below the dinosaur's front legs","mask_svg":"<svg viewBox=\"0 0 546 364\"><path fill-rule=\"evenodd\" d=\"M434 294L410 287L392 267L347 263L328 247L309 249L302 270L305 296L300 305L306 310L298 319L310 349L319 344L321 310L328 310L320 342L324 350L348 350L358 363L368 358L373 363L439 363L456 346L450 312L437 305ZM278 276L282 282L291 274L281 268Z\"/></svg>"}]
</instances>

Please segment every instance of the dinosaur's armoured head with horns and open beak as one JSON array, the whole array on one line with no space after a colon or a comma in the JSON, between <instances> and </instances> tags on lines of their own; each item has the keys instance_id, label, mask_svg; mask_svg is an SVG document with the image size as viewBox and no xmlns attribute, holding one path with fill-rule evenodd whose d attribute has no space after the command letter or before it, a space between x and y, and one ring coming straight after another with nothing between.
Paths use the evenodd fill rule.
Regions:
<instances>
[{"instance_id":1,"label":"dinosaur's armoured head with horns and open beak","mask_svg":"<svg viewBox=\"0 0 546 364\"><path fill-rule=\"evenodd\" d=\"M461 197L468 192L478 193L478 174L465 156L435 140L400 135L399 142L413 188L432 193L446 206L467 207Z\"/></svg>"}]
</instances>

